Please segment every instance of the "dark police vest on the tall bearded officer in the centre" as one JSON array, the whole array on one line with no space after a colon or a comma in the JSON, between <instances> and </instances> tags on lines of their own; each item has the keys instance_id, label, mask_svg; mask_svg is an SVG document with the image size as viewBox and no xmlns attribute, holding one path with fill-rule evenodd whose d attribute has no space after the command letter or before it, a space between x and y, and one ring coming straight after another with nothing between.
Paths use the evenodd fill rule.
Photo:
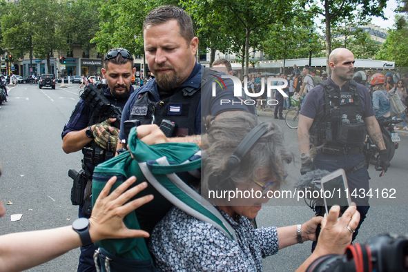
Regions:
<instances>
[{"instance_id":1,"label":"dark police vest on the tall bearded officer in the centre","mask_svg":"<svg viewBox=\"0 0 408 272\"><path fill-rule=\"evenodd\" d=\"M149 90L137 97L130 110L130 119L140 124L157 124L164 119L177 125L177 136L195 135L195 116L201 99L201 88L184 87L171 97L155 101Z\"/></svg>"}]
</instances>

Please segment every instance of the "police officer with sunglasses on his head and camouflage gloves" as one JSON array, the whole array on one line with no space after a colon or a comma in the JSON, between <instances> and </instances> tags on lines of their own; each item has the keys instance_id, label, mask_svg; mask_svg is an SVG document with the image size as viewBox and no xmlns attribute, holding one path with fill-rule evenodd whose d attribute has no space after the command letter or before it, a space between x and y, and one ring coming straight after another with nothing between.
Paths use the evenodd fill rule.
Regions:
<instances>
[{"instance_id":1,"label":"police officer with sunglasses on his head and camouflage gloves","mask_svg":"<svg viewBox=\"0 0 408 272\"><path fill-rule=\"evenodd\" d=\"M134 92L131 85L132 77L135 74L132 54L124 48L109 50L105 55L104 68L101 69L101 72L107 84L101 85L99 89L90 84L85 91L100 91L110 104L122 109L129 95ZM92 192L94 168L97 164L115 156L119 135L119 124L114 126L116 119L109 118L108 112L97 113L96 109L91 110L93 107L90 102L93 101L79 99L62 132L62 148L66 153L79 150L84 153L82 167L86 175L87 186L84 204L79 205L79 217L89 217L88 204ZM96 249L94 244L81 247L78 271L95 271L93 253Z\"/></svg>"}]
</instances>

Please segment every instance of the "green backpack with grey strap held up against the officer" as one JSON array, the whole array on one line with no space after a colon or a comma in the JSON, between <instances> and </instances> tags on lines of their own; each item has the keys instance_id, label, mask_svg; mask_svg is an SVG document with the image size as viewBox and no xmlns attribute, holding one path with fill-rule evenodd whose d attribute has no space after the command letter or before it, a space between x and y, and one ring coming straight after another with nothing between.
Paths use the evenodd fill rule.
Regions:
<instances>
[{"instance_id":1,"label":"green backpack with grey strap held up against the officer","mask_svg":"<svg viewBox=\"0 0 408 272\"><path fill-rule=\"evenodd\" d=\"M213 224L231 240L236 240L235 232L221 213L187 185L190 182L188 179L201 177L201 150L197 144L166 143L148 146L137 139L136 130L133 129L128 137L128 146L130 152L126 151L95 168L93 205L110 177L117 176L113 191L128 177L135 175L135 183L147 181L171 204L198 220ZM152 200L154 201L155 199ZM140 229L134 212L124 217L124 224L128 229ZM120 258L152 260L144 238L102 240L95 244Z\"/></svg>"}]
</instances>

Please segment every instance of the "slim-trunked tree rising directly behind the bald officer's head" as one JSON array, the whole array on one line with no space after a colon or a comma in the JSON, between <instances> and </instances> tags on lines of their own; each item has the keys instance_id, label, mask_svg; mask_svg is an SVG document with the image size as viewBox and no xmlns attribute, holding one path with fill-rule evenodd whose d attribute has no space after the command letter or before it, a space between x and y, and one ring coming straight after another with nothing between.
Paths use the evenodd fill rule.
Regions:
<instances>
[{"instance_id":1,"label":"slim-trunked tree rising directly behind the bald officer's head","mask_svg":"<svg viewBox=\"0 0 408 272\"><path fill-rule=\"evenodd\" d=\"M364 21L369 16L384 18L383 9L387 6L387 0L300 0L302 10L298 12L309 12L320 14L325 24L326 35L326 63L329 72L329 55L331 53L331 28L336 26L343 18L356 17ZM356 14L357 11L357 14Z\"/></svg>"}]
</instances>

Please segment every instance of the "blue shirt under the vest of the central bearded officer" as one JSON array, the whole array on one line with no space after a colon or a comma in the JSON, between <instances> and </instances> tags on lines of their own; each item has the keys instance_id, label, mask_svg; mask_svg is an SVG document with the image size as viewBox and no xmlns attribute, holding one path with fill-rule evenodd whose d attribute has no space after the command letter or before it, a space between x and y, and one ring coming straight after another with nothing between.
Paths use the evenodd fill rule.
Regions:
<instances>
[{"instance_id":1,"label":"blue shirt under the vest of the central bearded officer","mask_svg":"<svg viewBox=\"0 0 408 272\"><path fill-rule=\"evenodd\" d=\"M200 88L201 77L202 77L203 71L204 71L204 66L196 63L193 68L193 71L191 72L190 77L188 77L188 79L186 79L186 81L184 81L183 84L177 88L177 90L182 89L184 87ZM214 71L214 73L218 74L219 72ZM224 79L224 83L226 85L227 90L233 90L233 81L231 79ZM208 115L217 116L220 113L227 111L227 110L248 111L246 106L243 104L243 102L233 97L232 92L226 92L226 91L223 92L220 86L216 86L216 88L217 88L216 97L212 96L211 82L208 82L208 84L205 84L204 88L202 88L201 90L201 99L197 106L197 112L195 113L195 128L196 128L195 134L196 135L199 135L202 132L201 131L202 117L206 117ZM135 104L135 101L137 100L139 95L141 95L142 93L146 93L148 91L150 91L150 93L153 95L155 102L160 100L156 79L152 79L148 81L145 86L138 88L135 91L135 93L133 93L133 95L130 95L128 101L126 102L126 105L124 106L124 110L122 112L119 139L125 138L124 122L130 119L130 111L133 108L133 104ZM235 101L236 103L231 102L231 103L222 104L220 102L222 99L223 101L230 100L230 101Z\"/></svg>"}]
</instances>

